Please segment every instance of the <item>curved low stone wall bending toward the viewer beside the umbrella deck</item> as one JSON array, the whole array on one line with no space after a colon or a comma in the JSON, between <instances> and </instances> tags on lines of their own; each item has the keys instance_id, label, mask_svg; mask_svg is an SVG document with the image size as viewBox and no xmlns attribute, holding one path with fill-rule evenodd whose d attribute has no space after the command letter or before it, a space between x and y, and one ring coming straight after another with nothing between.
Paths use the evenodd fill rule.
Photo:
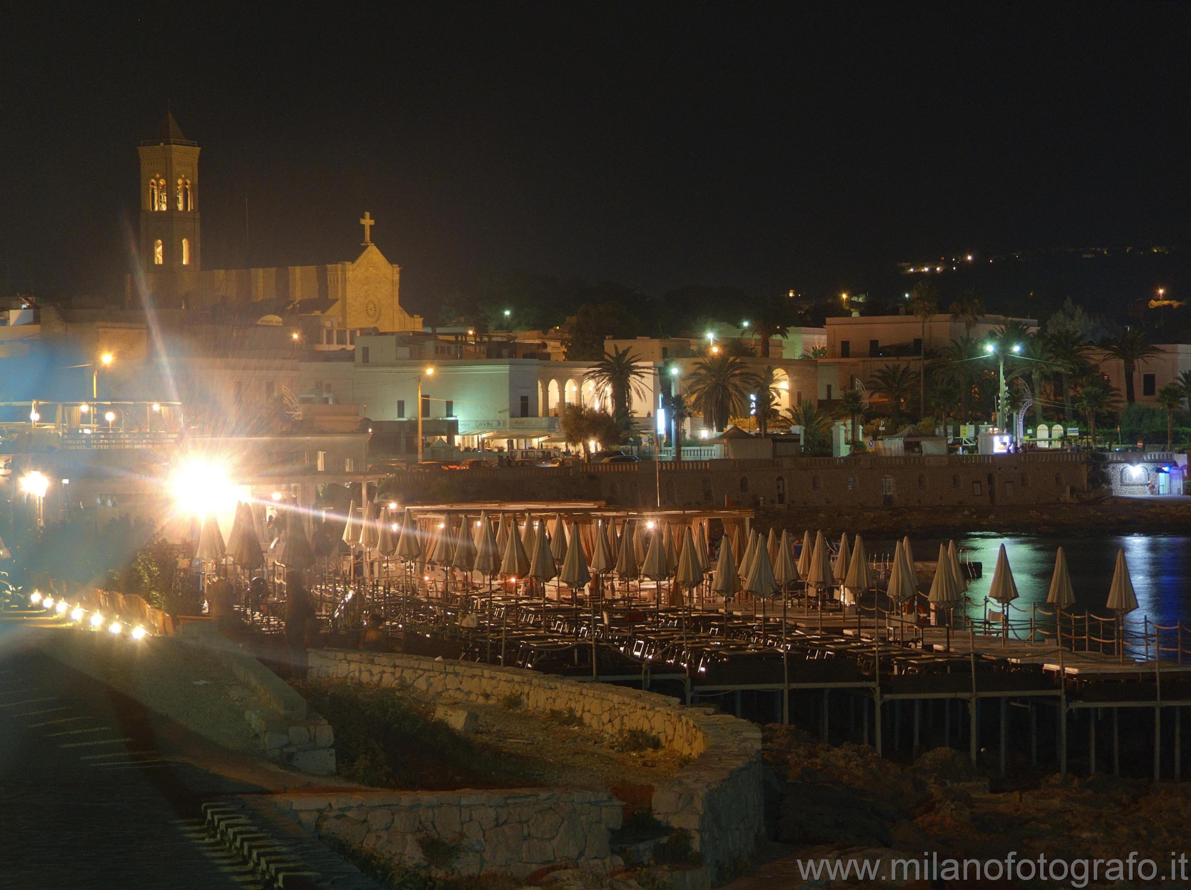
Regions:
<instances>
[{"instance_id":1,"label":"curved low stone wall bending toward the viewer beside the umbrella deck","mask_svg":"<svg viewBox=\"0 0 1191 890\"><path fill-rule=\"evenodd\" d=\"M609 735L629 729L654 733L691 763L657 783L653 814L688 830L705 865L715 867L749 857L763 830L761 730L736 717L685 708L675 698L653 692L468 661L323 649L310 653L310 666L322 677L378 686L409 685L462 701L491 702L519 695L530 710L573 709L584 723Z\"/></svg>"}]
</instances>

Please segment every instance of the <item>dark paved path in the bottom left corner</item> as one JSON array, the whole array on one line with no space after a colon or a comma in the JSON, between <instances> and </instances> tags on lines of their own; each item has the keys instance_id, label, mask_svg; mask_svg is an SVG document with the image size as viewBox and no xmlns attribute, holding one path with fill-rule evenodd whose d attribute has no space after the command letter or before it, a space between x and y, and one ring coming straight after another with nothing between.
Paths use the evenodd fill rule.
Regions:
<instances>
[{"instance_id":1,"label":"dark paved path in the bottom left corner","mask_svg":"<svg viewBox=\"0 0 1191 890\"><path fill-rule=\"evenodd\" d=\"M204 791L236 789L175 759L162 730L0 628L0 888L258 886L202 829Z\"/></svg>"}]
</instances>

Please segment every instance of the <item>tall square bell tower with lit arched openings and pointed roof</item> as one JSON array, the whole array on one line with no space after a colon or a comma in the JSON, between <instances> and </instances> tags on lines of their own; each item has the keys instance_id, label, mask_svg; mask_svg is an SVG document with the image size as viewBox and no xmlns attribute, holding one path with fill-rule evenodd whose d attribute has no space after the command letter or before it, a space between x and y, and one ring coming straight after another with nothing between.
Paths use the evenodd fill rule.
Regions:
<instances>
[{"instance_id":1,"label":"tall square bell tower with lit arched openings and pointed roof","mask_svg":"<svg viewBox=\"0 0 1191 890\"><path fill-rule=\"evenodd\" d=\"M141 267L152 273L198 273L199 144L182 135L170 112L156 139L141 143Z\"/></svg>"}]
</instances>

